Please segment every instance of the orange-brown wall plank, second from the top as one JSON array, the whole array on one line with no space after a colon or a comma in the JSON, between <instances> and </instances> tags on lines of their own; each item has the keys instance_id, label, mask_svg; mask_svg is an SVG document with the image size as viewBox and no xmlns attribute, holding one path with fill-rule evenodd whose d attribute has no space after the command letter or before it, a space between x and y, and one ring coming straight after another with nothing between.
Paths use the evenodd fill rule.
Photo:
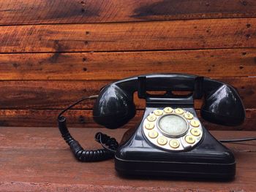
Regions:
<instances>
[{"instance_id":1,"label":"orange-brown wall plank, second from the top","mask_svg":"<svg viewBox=\"0 0 256 192\"><path fill-rule=\"evenodd\" d=\"M1 53L183 50L256 46L256 18L2 26Z\"/></svg>"}]
</instances>

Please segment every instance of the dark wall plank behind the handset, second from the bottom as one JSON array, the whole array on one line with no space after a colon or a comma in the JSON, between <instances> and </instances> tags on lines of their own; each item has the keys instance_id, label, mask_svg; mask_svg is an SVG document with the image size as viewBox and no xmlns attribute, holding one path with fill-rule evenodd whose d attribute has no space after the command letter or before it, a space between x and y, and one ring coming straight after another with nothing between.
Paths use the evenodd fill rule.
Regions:
<instances>
[{"instance_id":1,"label":"dark wall plank behind the handset, second from the bottom","mask_svg":"<svg viewBox=\"0 0 256 192\"><path fill-rule=\"evenodd\" d=\"M216 79L236 87L246 109L256 108L256 77ZM113 80L0 81L0 106L7 110L64 109L83 96L98 94L100 88L110 82ZM87 101L75 108L91 109L93 103L94 101ZM138 109L145 107L145 100L138 99L136 93L135 104ZM195 108L198 109L200 105L200 100L196 100Z\"/></svg>"}]
</instances>

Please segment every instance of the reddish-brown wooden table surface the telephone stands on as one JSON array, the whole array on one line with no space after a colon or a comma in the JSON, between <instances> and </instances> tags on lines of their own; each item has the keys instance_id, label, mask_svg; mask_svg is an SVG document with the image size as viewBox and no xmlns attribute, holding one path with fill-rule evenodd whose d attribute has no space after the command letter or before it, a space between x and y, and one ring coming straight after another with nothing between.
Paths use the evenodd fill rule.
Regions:
<instances>
[{"instance_id":1,"label":"reddish-brown wooden table surface the telephone stands on","mask_svg":"<svg viewBox=\"0 0 256 192\"><path fill-rule=\"evenodd\" d=\"M83 147L100 147L94 134L102 131L118 140L127 129L70 128ZM256 137L256 131L211 131L218 139ZM255 191L256 141L227 144L237 161L233 181L124 178L113 160L80 163L58 128L0 128L0 191Z\"/></svg>"}]
</instances>

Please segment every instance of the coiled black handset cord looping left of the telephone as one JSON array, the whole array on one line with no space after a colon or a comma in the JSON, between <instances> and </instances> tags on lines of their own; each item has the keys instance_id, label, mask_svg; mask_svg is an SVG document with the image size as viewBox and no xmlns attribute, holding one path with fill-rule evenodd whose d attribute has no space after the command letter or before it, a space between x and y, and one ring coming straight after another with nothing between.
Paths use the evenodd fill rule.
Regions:
<instances>
[{"instance_id":1,"label":"coiled black handset cord looping left of the telephone","mask_svg":"<svg viewBox=\"0 0 256 192\"><path fill-rule=\"evenodd\" d=\"M114 157L114 154L118 148L118 142L115 138L111 138L106 134L102 134L101 132L98 132L95 135L95 139L97 142L99 142L103 149L98 150L84 150L83 147L79 144L78 141L76 141L71 134L69 133L67 129L67 122L66 118L62 116L64 112L74 107L76 104L80 103L81 101L84 101L86 99L95 99L97 96L89 96L85 97L83 99L80 99L79 101L76 101L74 104L70 105L66 109L62 110L58 116L58 126L59 131L61 131L61 136L67 142L67 144L70 146L70 149L72 150L73 155L75 155L75 158L78 159L78 161L83 162L89 162L89 161L104 161L110 158ZM105 146L106 145L106 146Z\"/></svg>"}]
</instances>

